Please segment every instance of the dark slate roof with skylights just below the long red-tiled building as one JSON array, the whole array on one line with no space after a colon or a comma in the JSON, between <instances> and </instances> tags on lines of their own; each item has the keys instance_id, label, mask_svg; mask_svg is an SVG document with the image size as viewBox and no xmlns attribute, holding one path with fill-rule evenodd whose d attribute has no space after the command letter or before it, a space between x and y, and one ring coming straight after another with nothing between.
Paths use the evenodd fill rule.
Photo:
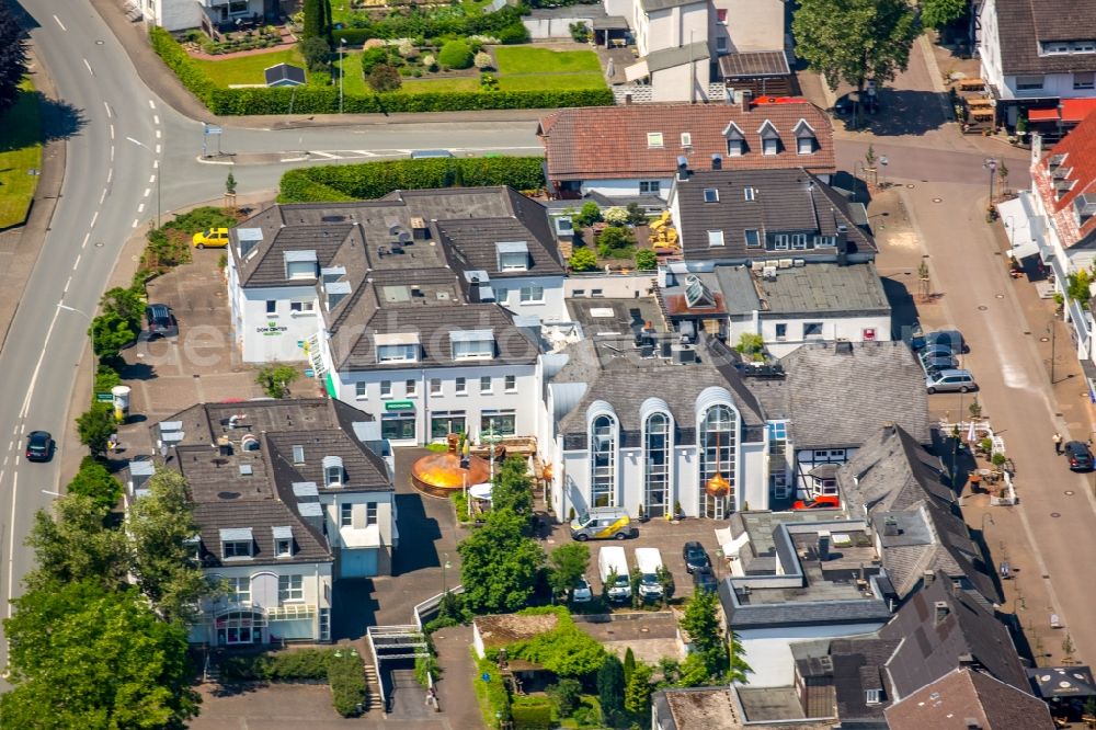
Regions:
<instances>
[{"instance_id":1,"label":"dark slate roof with skylights just below the long red-tiled building","mask_svg":"<svg viewBox=\"0 0 1096 730\"><path fill-rule=\"evenodd\" d=\"M813 185L812 185L813 183ZM754 190L746 199L745 189ZM705 202L704 191L716 189L718 202ZM674 181L677 223L686 260L833 259L833 247L802 250L747 248L745 230L765 235L803 232L836 236L847 229L848 253L870 258L876 251L871 235L853 220L854 205L803 169L694 170L686 180ZM708 231L721 230L723 246L708 244Z\"/></svg>"}]
</instances>

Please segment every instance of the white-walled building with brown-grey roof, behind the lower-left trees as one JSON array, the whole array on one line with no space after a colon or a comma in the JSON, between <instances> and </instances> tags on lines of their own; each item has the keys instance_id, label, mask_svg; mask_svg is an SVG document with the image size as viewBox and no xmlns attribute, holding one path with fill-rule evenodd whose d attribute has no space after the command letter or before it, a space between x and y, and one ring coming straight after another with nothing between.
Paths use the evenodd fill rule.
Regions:
<instances>
[{"instance_id":1,"label":"white-walled building with brown-grey roof, behind the lower-left trees","mask_svg":"<svg viewBox=\"0 0 1096 730\"><path fill-rule=\"evenodd\" d=\"M334 581L391 572L391 463L365 413L324 399L205 403L150 437L186 479L196 560L229 589L203 605L192 641L329 641ZM134 499L145 464L130 465Z\"/></svg>"}]
</instances>

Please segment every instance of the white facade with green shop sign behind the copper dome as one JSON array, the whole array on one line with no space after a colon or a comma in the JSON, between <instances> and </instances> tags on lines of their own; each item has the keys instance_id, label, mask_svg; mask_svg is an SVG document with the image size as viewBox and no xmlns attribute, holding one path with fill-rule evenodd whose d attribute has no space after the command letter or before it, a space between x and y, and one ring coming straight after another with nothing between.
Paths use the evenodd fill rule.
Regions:
<instances>
[{"instance_id":1,"label":"white facade with green shop sign behind the copper dome","mask_svg":"<svg viewBox=\"0 0 1096 730\"><path fill-rule=\"evenodd\" d=\"M513 375L515 388L506 391L505 376ZM466 393L456 391L457 378L465 378ZM480 378L491 378L491 392L480 392ZM442 380L441 395L429 395L430 381ZM381 383L391 383L391 395L381 398ZM414 380L415 389L409 395L407 381ZM357 395L357 383L365 384L363 396ZM536 365L468 365L466 367L407 368L387 370L349 370L336 375L338 398L384 422L386 403L411 401L415 412L415 438L393 441L396 446L430 443L430 420L442 412L464 411L466 427L472 438L479 436L482 412L512 410L515 415L515 434L532 436L537 431L537 401L539 383Z\"/></svg>"}]
</instances>

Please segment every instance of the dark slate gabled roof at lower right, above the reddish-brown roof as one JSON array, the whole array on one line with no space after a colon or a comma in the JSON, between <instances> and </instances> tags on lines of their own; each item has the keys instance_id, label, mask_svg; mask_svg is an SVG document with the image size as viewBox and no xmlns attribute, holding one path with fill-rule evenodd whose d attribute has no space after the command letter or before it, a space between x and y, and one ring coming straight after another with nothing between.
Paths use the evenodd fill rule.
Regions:
<instances>
[{"instance_id":1,"label":"dark slate gabled roof at lower right, above the reddish-brown roof","mask_svg":"<svg viewBox=\"0 0 1096 730\"><path fill-rule=\"evenodd\" d=\"M938 625L937 602L948 607ZM1002 682L1024 691L1029 686L1005 625L970 595L952 590L946 575L917 591L879 634L902 642L887 665L900 696L940 678L966 655Z\"/></svg>"}]
</instances>

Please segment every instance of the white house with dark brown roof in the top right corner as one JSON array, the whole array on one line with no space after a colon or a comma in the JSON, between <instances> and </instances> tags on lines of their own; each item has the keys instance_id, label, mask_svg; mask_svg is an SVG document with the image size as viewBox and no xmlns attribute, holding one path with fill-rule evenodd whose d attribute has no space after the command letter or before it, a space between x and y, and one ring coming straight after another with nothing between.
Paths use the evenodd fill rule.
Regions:
<instances>
[{"instance_id":1,"label":"white house with dark brown roof in the top right corner","mask_svg":"<svg viewBox=\"0 0 1096 730\"><path fill-rule=\"evenodd\" d=\"M984 0L978 5L981 76L998 118L1096 96L1096 5L1088 0Z\"/></svg>"}]
</instances>

